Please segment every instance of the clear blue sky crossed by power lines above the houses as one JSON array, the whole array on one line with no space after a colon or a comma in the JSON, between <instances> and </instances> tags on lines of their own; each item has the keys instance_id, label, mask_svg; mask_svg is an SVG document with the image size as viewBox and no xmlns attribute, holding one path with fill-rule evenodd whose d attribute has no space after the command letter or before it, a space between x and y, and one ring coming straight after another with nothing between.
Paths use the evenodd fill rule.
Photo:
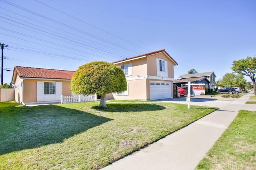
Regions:
<instances>
[{"instance_id":1,"label":"clear blue sky crossed by power lines above the houses","mask_svg":"<svg viewBox=\"0 0 256 170\"><path fill-rule=\"evenodd\" d=\"M192 68L220 79L234 60L256 55L255 8L255 0L0 0L4 83L14 66L75 71L163 48L178 63L175 79Z\"/></svg>"}]
</instances>

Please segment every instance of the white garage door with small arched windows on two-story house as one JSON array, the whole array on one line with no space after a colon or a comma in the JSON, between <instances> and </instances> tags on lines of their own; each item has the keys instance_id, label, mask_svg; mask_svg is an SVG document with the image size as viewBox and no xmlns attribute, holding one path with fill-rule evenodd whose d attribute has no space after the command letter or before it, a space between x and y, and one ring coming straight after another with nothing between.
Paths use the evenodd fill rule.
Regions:
<instances>
[{"instance_id":1,"label":"white garage door with small arched windows on two-story house","mask_svg":"<svg viewBox=\"0 0 256 170\"><path fill-rule=\"evenodd\" d=\"M150 100L171 98L171 82L150 81Z\"/></svg>"}]
</instances>

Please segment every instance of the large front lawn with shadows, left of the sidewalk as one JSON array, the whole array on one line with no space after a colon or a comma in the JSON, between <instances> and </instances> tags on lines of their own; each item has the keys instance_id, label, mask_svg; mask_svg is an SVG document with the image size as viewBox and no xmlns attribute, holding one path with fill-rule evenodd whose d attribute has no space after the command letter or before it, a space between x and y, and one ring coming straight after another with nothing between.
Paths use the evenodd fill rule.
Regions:
<instances>
[{"instance_id":1,"label":"large front lawn with shadows, left of the sidewalk","mask_svg":"<svg viewBox=\"0 0 256 170\"><path fill-rule=\"evenodd\" d=\"M0 169L100 169L211 113L174 103L0 103Z\"/></svg>"}]
</instances>

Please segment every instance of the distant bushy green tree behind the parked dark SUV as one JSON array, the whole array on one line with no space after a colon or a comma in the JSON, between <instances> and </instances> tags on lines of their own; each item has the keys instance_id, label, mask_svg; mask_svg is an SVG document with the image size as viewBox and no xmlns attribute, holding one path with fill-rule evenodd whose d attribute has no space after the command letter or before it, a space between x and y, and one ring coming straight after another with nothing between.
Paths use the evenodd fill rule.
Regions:
<instances>
[{"instance_id":1,"label":"distant bushy green tree behind the parked dark SUV","mask_svg":"<svg viewBox=\"0 0 256 170\"><path fill-rule=\"evenodd\" d=\"M222 80L220 80L219 85L222 87L240 87L244 89L246 79L244 79L244 76L240 74L226 73Z\"/></svg>"}]
</instances>

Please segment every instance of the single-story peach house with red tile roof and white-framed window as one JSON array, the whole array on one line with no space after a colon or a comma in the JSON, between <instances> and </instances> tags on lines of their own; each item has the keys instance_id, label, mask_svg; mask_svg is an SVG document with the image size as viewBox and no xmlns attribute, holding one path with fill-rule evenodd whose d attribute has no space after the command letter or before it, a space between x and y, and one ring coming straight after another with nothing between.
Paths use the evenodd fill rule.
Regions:
<instances>
[{"instance_id":1,"label":"single-story peach house with red tile roof and white-framed window","mask_svg":"<svg viewBox=\"0 0 256 170\"><path fill-rule=\"evenodd\" d=\"M16 66L12 75L15 101L22 104L59 102L60 95L71 95L69 85L74 72Z\"/></svg>"}]
</instances>

